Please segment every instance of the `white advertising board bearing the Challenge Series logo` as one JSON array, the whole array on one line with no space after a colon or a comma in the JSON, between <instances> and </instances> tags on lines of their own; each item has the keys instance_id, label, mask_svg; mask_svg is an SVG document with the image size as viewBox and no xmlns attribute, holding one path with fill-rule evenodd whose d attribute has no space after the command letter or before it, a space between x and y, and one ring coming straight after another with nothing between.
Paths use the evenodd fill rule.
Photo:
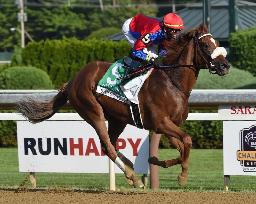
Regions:
<instances>
[{"instance_id":1,"label":"white advertising board bearing the Challenge Series logo","mask_svg":"<svg viewBox=\"0 0 256 204\"><path fill-rule=\"evenodd\" d=\"M256 121L223 121L224 175L256 175Z\"/></svg>"}]
</instances>

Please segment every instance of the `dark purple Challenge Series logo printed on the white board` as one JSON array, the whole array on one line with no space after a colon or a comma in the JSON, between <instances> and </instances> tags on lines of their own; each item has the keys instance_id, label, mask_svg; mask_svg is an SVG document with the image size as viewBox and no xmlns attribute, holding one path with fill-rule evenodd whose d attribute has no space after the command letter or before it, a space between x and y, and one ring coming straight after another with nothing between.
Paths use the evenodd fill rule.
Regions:
<instances>
[{"instance_id":1,"label":"dark purple Challenge Series logo printed on the white board","mask_svg":"<svg viewBox=\"0 0 256 204\"><path fill-rule=\"evenodd\" d=\"M244 172L256 172L256 125L240 131L240 150L236 158Z\"/></svg>"}]
</instances>

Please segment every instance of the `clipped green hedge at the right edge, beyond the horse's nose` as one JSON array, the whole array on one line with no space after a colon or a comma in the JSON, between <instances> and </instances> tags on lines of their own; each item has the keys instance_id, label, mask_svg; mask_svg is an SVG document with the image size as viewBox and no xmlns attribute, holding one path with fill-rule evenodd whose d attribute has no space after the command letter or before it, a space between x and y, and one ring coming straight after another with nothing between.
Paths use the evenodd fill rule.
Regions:
<instances>
[{"instance_id":1,"label":"clipped green hedge at the right edge, beyond the horse's nose","mask_svg":"<svg viewBox=\"0 0 256 204\"><path fill-rule=\"evenodd\" d=\"M231 33L229 43L232 64L256 76L256 26Z\"/></svg>"}]
</instances>

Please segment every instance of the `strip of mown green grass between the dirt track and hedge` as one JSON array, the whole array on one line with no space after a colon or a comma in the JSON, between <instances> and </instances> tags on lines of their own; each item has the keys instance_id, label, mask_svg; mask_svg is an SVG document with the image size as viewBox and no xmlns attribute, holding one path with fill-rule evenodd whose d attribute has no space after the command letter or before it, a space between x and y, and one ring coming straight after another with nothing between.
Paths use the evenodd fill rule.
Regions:
<instances>
[{"instance_id":1,"label":"strip of mown green grass between the dirt track and hedge","mask_svg":"<svg viewBox=\"0 0 256 204\"><path fill-rule=\"evenodd\" d=\"M173 159L179 157L176 149L159 149L159 157ZM159 167L160 189L155 191L176 192L223 192L223 150L191 149L188 169L188 185L181 187L176 179L181 173L181 165L170 168ZM17 148L0 148L0 188L17 188L28 176L19 172ZM137 175L141 178L142 174ZM256 193L254 176L230 176L230 192ZM150 176L148 175L149 189ZM36 173L37 188L49 189L58 186L65 189L108 190L108 174L93 173ZM30 182L27 188L32 188ZM123 174L116 174L116 189L141 190L129 186Z\"/></svg>"}]
</instances>

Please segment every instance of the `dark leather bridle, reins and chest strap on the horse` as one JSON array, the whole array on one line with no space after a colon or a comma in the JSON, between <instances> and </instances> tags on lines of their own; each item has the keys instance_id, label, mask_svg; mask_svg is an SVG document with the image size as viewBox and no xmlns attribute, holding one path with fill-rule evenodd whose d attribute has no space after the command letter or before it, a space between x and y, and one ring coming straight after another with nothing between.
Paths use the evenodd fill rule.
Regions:
<instances>
[{"instance_id":1,"label":"dark leather bridle, reins and chest strap on the horse","mask_svg":"<svg viewBox=\"0 0 256 204\"><path fill-rule=\"evenodd\" d=\"M194 45L195 45L195 50L196 50L196 56L197 56L197 47L199 48L199 55L201 56L202 60L204 61L204 64L197 64L197 58L196 58L196 64L184 64L184 65L169 65L169 66L159 66L159 69L163 69L163 71L167 74L167 76L169 77L169 79L171 80L172 84L174 84L182 93L184 93L187 97L190 96L190 94L186 93L185 91L182 90L182 88L180 88L180 86L173 80L172 76L167 72L168 70L164 70L165 68L177 68L177 67L200 67L200 69L209 69L209 73L211 74L217 74L217 72L212 72L212 67L214 67L214 65L212 65L211 62L207 61L205 58L204 58L204 55L201 51L201 47L198 43L198 40L200 38L202 38L204 36L199 36L199 37L196 37L196 35L194 36ZM205 52L206 53L206 52ZM209 55L208 53L206 53L208 56L211 56ZM172 70L172 69L170 69Z\"/></svg>"}]
</instances>

